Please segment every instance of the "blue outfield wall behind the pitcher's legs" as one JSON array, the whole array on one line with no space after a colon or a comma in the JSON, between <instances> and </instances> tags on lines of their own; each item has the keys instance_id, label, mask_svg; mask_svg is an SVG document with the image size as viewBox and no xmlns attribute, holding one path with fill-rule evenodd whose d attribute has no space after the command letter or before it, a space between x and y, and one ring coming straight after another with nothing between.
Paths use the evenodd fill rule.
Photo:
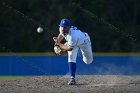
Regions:
<instances>
[{"instance_id":1,"label":"blue outfield wall behind the pitcher's legs","mask_svg":"<svg viewBox=\"0 0 140 93\"><path fill-rule=\"evenodd\" d=\"M65 75L67 56L0 56L0 75ZM77 58L77 74L140 75L140 56L96 55L90 65Z\"/></svg>"}]
</instances>

